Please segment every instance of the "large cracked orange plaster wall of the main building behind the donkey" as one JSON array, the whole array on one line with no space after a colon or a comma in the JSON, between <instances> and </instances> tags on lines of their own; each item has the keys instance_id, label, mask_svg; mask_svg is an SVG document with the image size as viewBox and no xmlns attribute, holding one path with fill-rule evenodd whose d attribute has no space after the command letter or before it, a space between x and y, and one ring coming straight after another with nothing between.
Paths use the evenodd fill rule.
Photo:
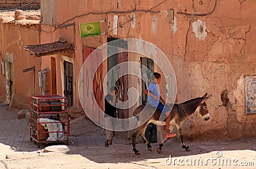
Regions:
<instances>
[{"instance_id":1,"label":"large cracked orange plaster wall of the main building behind the donkey","mask_svg":"<svg viewBox=\"0 0 256 169\"><path fill-rule=\"evenodd\" d=\"M79 5L82 3L83 6ZM97 48L106 43L108 37L149 41L159 47L173 65L177 77L177 103L203 96L205 92L212 94L207 100L210 121L204 122L198 114L191 115L184 123L184 135L193 137L217 132L230 137L256 136L252 128L256 116L244 114L244 76L256 74L256 1L172 0L161 4L153 0L122 3L65 0L56 1L56 6L56 23L63 23L68 18L74 18L72 22L75 23L106 19L102 26L106 34L102 36L81 39L77 24L51 34L52 41L61 37L74 42L76 79L83 46ZM76 17L90 11L102 14ZM117 34L113 33L114 15L118 15ZM49 43L49 35L42 33L40 40ZM139 61L136 57L133 59ZM47 59L44 62L47 63ZM44 64L44 68L46 66ZM77 89L74 92L79 101ZM228 99L226 105L223 105L224 98Z\"/></svg>"}]
</instances>

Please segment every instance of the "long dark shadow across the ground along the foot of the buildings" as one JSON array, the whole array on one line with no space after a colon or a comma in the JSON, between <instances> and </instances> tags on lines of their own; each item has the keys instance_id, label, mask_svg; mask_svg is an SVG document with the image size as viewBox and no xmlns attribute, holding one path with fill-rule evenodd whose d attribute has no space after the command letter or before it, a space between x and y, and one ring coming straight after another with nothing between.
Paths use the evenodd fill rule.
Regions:
<instances>
[{"instance_id":1,"label":"long dark shadow across the ground along the foot of the buildings","mask_svg":"<svg viewBox=\"0 0 256 169\"><path fill-rule=\"evenodd\" d=\"M37 145L29 141L29 126L25 119L18 119L19 110L0 104L0 143L10 146L15 151L32 152L44 149L47 145ZM256 138L234 140L188 140L185 142L191 149L190 152L182 149L179 139L172 138L164 144L163 152L159 154L156 149L157 143L152 144L153 151L148 151L144 143L136 144L141 155L135 155L132 151L131 140L114 138L111 147L104 147L104 132L89 120L81 117L71 123L71 136L69 139L70 150L65 152L69 155L79 154L95 163L134 163L154 159L155 163L164 163L163 158L170 155L174 157L203 156L205 153L215 151L256 151ZM72 135L72 131L74 135ZM91 132L90 132L91 131ZM79 135L81 133L81 135ZM90 133L90 134L88 134ZM157 159L161 159L159 161Z\"/></svg>"}]
</instances>

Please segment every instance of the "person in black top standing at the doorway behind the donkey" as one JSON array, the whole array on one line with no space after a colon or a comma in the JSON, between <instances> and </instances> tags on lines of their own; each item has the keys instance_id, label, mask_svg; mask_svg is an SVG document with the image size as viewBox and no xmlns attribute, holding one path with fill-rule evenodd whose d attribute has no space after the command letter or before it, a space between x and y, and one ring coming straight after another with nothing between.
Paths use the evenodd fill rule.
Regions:
<instances>
[{"instance_id":1,"label":"person in black top standing at the doorway behind the donkey","mask_svg":"<svg viewBox=\"0 0 256 169\"><path fill-rule=\"evenodd\" d=\"M116 93L117 93L116 87L110 87L109 93L104 99L104 102L105 102L104 117L106 122L105 147L108 147L108 145L112 145L112 138L113 138L112 117L116 118L116 103L117 103ZM109 130L109 129L112 129L112 130Z\"/></svg>"}]
</instances>

